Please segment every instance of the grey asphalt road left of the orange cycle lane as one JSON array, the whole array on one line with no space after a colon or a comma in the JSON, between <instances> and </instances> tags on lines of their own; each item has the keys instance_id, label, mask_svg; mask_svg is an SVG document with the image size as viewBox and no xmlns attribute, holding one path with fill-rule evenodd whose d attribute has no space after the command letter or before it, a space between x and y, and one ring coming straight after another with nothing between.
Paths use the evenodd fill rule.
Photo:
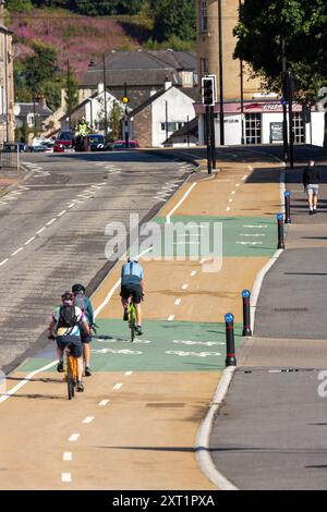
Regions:
<instances>
[{"instance_id":1,"label":"grey asphalt road left of the orange cycle lane","mask_svg":"<svg viewBox=\"0 0 327 512\"><path fill-rule=\"evenodd\" d=\"M135 151L24 155L32 178L0 200L0 367L46 343L47 319L73 282L93 291L112 265L105 228L150 218L194 170Z\"/></svg>"}]
</instances>

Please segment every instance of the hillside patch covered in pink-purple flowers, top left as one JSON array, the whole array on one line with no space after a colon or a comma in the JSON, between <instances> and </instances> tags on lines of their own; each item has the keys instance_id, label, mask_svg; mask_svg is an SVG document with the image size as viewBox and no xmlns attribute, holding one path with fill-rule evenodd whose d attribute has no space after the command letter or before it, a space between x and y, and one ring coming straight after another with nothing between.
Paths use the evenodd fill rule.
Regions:
<instances>
[{"instance_id":1,"label":"hillside patch covered in pink-purple flowers, top left","mask_svg":"<svg viewBox=\"0 0 327 512\"><path fill-rule=\"evenodd\" d=\"M10 14L9 28L14 33L16 57L31 54L35 40L52 45L57 50L58 66L72 69L81 76L89 61L111 49L137 49L146 33L137 16L88 17L64 10L35 9L29 13ZM130 35L133 33L133 36Z\"/></svg>"}]
</instances>

